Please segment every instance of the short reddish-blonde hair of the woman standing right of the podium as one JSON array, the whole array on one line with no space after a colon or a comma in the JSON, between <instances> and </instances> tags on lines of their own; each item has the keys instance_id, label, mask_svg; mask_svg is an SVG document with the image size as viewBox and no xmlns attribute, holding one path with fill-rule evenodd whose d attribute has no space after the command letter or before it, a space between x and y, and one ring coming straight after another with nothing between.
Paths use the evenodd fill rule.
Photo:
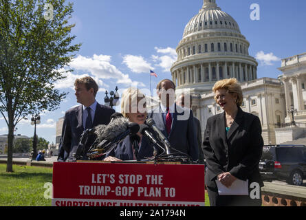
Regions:
<instances>
[{"instance_id":1,"label":"short reddish-blonde hair of the woman standing right of the podium","mask_svg":"<svg viewBox=\"0 0 306 220\"><path fill-rule=\"evenodd\" d=\"M243 102L243 94L241 86L238 83L236 78L227 78L224 80L219 80L215 83L214 87L212 87L212 91L216 93L219 89L226 89L229 94L237 94L237 106L241 106ZM215 101L217 102L216 96L214 97Z\"/></svg>"}]
</instances>

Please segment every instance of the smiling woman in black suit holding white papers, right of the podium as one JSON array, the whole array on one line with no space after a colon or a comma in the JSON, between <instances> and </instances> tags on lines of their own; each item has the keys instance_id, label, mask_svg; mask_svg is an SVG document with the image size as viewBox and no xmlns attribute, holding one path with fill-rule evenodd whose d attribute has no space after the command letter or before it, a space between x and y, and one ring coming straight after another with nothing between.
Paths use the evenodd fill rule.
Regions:
<instances>
[{"instance_id":1,"label":"smiling woman in black suit holding white papers, right of the podium","mask_svg":"<svg viewBox=\"0 0 306 220\"><path fill-rule=\"evenodd\" d=\"M204 157L208 167L205 181L210 206L261 206L261 122L257 116L241 110L243 94L237 79L220 80L212 90L223 113L208 118L204 133ZM219 188L228 189L226 193L231 194L228 192L232 184L241 180L248 180L249 195L218 192L217 182ZM250 184L257 190L252 196Z\"/></svg>"}]
</instances>

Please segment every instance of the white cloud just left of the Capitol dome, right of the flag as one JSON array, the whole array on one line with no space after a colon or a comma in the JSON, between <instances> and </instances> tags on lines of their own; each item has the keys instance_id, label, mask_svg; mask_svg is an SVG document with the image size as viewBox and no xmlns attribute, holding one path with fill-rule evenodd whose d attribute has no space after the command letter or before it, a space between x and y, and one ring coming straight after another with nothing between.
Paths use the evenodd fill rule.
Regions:
<instances>
[{"instance_id":1,"label":"white cloud just left of the Capitol dome, right of the flag","mask_svg":"<svg viewBox=\"0 0 306 220\"><path fill-rule=\"evenodd\" d=\"M170 68L175 61L177 61L177 53L175 49L171 47L159 48L155 47L155 50L159 54L165 54L163 56L153 55L153 61L157 63L158 67L162 67L164 72L170 72Z\"/></svg>"}]
</instances>

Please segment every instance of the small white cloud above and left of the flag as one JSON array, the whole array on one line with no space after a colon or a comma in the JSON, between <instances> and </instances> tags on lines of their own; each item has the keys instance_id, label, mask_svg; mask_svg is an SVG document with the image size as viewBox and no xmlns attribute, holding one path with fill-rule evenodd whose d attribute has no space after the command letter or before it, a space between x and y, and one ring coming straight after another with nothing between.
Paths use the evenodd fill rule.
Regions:
<instances>
[{"instance_id":1,"label":"small white cloud above and left of the flag","mask_svg":"<svg viewBox=\"0 0 306 220\"><path fill-rule=\"evenodd\" d=\"M136 74L149 73L151 64L144 60L142 56L125 55L123 56L123 63L131 69L131 72Z\"/></svg>"}]
</instances>

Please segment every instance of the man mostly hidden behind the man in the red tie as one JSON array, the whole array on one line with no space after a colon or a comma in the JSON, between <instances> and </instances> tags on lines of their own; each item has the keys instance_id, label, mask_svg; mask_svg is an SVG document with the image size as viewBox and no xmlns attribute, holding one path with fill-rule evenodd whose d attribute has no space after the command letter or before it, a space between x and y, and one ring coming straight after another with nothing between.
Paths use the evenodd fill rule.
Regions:
<instances>
[{"instance_id":1,"label":"man mostly hidden behind the man in the red tie","mask_svg":"<svg viewBox=\"0 0 306 220\"><path fill-rule=\"evenodd\" d=\"M188 93L186 94L182 93L180 96L177 97L176 103L177 105L183 108L186 107L188 109L191 109L191 107L193 106L193 96L191 96L191 94L188 94ZM204 153L202 149L201 123L195 117L193 117L193 120L195 122L195 131L197 133L197 145L199 147L199 164L204 164Z\"/></svg>"}]
</instances>

